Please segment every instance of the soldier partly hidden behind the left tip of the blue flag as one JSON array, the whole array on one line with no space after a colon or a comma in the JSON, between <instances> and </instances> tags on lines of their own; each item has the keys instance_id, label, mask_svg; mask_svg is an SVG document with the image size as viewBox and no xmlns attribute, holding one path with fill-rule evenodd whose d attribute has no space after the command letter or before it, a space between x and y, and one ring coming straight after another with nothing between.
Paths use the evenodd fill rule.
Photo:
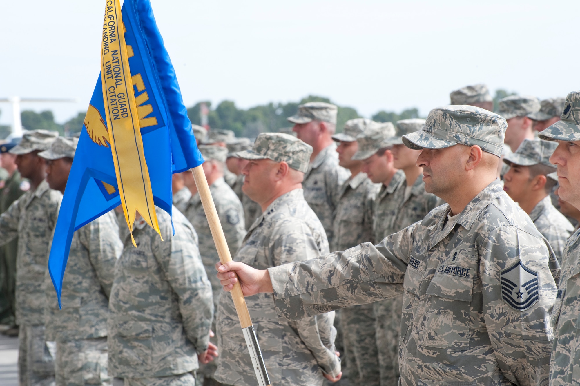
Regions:
<instances>
[{"instance_id":1,"label":"soldier partly hidden behind the left tip of the blue flag","mask_svg":"<svg viewBox=\"0 0 580 386\"><path fill-rule=\"evenodd\" d=\"M46 181L64 194L78 140L57 137L49 150ZM111 210L75 231L64 272L59 310L55 287L45 275L46 340L56 342L56 386L111 385L107 373L108 297L121 256L117 217Z\"/></svg>"}]
</instances>

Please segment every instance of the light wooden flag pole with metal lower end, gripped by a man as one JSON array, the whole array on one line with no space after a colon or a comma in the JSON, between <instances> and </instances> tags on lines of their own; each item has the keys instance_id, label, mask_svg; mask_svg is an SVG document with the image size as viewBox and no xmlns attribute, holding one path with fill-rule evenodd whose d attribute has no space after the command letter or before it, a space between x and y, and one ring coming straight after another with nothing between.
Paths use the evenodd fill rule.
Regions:
<instances>
[{"instance_id":1,"label":"light wooden flag pole with metal lower end, gripped by a man","mask_svg":"<svg viewBox=\"0 0 580 386\"><path fill-rule=\"evenodd\" d=\"M227 247L226 236L223 234L222 224L219 222L218 211L213 203L208 181L205 179L204 168L201 165L194 167L191 169L191 173L193 173L193 179L197 186L197 192L200 195L201 204L204 206L205 217L207 217L209 229L212 231L213 242L218 250L219 260L222 264L226 264L228 261L232 261L230 249ZM266 365L264 364L262 351L260 351L256 331L252 326L252 319L250 318L240 282L234 284L234 288L230 294L234 300L235 311L238 313L242 332L244 333L246 345L248 346L250 358L252 359L253 369L256 373L256 378L258 378L258 386L270 386L270 378L268 377Z\"/></svg>"}]
</instances>

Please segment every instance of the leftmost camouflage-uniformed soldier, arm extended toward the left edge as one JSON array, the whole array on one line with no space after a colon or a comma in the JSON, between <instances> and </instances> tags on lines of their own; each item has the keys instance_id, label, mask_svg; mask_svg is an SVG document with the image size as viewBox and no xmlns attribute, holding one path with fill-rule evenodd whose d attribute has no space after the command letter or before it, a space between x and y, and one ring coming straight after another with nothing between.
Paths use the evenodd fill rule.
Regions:
<instances>
[{"instance_id":1,"label":"leftmost camouflage-uniformed soldier, arm extended toward the left edge","mask_svg":"<svg viewBox=\"0 0 580 386\"><path fill-rule=\"evenodd\" d=\"M46 344L44 277L52 232L62 194L46 182L46 162L38 156L59 135L47 130L24 133L10 150L30 190L0 216L0 243L18 237L16 257L16 323L19 325L18 377L20 385L49 386L55 382L55 365Z\"/></svg>"}]
</instances>

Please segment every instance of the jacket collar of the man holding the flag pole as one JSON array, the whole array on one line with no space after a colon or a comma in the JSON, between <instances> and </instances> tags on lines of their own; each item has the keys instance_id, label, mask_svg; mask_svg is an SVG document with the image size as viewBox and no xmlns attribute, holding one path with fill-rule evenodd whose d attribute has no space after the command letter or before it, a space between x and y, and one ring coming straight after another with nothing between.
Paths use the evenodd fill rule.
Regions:
<instances>
[{"instance_id":1,"label":"jacket collar of the man holding the flag pole","mask_svg":"<svg viewBox=\"0 0 580 386\"><path fill-rule=\"evenodd\" d=\"M467 204L462 212L459 213L459 216L455 217L453 221L447 220L447 215L451 208L449 207L449 204L445 204L446 208L440 219L437 219L437 224L433 228L431 245L436 245L438 242L443 240L445 236L455 229L456 224L460 224L463 228L469 230L473 223L478 219L481 211L501 194L504 194L503 188L501 183L499 183L499 179L496 179L491 184L487 185L484 190L479 192L479 194Z\"/></svg>"}]
</instances>

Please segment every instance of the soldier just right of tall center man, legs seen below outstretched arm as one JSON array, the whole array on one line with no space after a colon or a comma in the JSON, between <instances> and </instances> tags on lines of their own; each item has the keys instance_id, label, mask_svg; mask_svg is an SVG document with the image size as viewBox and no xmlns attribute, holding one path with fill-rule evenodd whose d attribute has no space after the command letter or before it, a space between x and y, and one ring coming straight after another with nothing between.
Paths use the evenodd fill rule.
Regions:
<instances>
[{"instance_id":1,"label":"soldier just right of tall center man, legs seen below outstretched arm","mask_svg":"<svg viewBox=\"0 0 580 386\"><path fill-rule=\"evenodd\" d=\"M338 203L332 223L332 252L345 250L363 241L372 241L372 203L378 185L361 172L362 162L353 159L358 150L358 134L378 123L367 118L351 119L342 133L332 139L338 143L338 164L349 170L350 177L339 188ZM392 125L391 125L392 126ZM340 311L346 377L349 383L379 386L379 362L372 304L347 307Z\"/></svg>"}]
</instances>

